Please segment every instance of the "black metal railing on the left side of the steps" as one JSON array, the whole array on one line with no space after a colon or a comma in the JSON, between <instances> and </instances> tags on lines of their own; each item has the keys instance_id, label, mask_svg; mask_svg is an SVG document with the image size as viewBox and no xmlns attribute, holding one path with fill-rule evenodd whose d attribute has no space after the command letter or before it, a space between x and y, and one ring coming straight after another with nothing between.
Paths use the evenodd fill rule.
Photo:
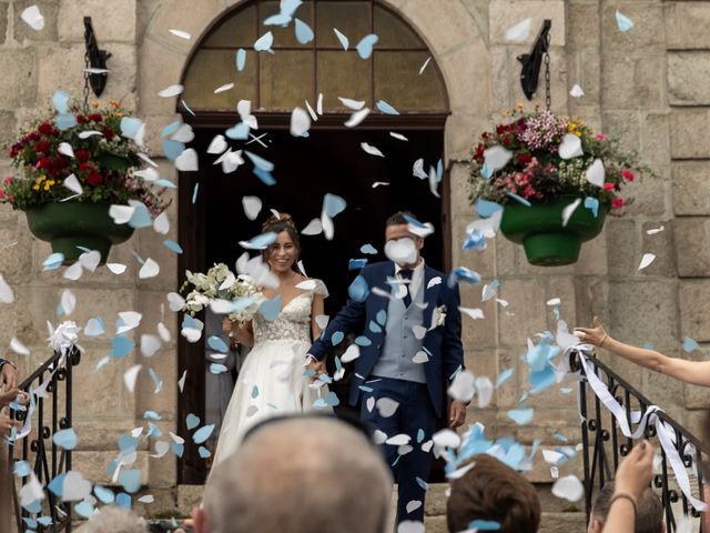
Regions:
<instances>
[{"instance_id":1,"label":"black metal railing on the left side of the steps","mask_svg":"<svg viewBox=\"0 0 710 533\"><path fill-rule=\"evenodd\" d=\"M71 470L71 451L54 444L52 436L61 430L72 426L72 366L79 364L81 353L72 348L62 361L62 354L55 352L30 376L19 389L27 392L38 390L45 383L45 394L36 395L36 406L31 412L30 433L9 446L9 464L12 472L17 461L27 461L34 475L42 485L49 484L54 477ZM29 411L14 410L11 415L26 423ZM24 531L27 524L23 519L36 520L20 505L17 491L17 476L12 475L12 504L17 519L18 531ZM28 483L30 476L22 477L22 484ZM32 527L40 532L71 532L72 510L71 502L62 502L52 491L45 490L45 499L42 501L41 515L50 516L50 525L37 524Z\"/></svg>"}]
</instances>

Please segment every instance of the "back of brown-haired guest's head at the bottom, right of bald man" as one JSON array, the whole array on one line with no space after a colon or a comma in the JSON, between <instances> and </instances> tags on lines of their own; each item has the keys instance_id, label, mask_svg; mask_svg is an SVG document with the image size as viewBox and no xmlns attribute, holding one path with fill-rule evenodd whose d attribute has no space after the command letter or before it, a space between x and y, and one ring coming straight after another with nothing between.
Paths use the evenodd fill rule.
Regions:
<instances>
[{"instance_id":1,"label":"back of brown-haired guest's head at the bottom, right of bald man","mask_svg":"<svg viewBox=\"0 0 710 533\"><path fill-rule=\"evenodd\" d=\"M446 505L448 531L466 531L476 520L500 524L500 533L535 533L540 502L532 484L490 455L476 455L474 466L452 482Z\"/></svg>"}]
</instances>

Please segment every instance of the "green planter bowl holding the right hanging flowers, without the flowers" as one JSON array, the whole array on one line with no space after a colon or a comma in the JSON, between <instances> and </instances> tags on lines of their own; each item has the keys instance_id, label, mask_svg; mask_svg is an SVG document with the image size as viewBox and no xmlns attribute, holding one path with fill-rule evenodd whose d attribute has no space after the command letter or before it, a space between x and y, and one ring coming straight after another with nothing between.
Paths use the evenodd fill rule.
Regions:
<instances>
[{"instance_id":1,"label":"green planter bowl holding the right hanging flowers, without the flowers","mask_svg":"<svg viewBox=\"0 0 710 533\"><path fill-rule=\"evenodd\" d=\"M599 204L597 217L584 203L562 227L562 210L576 200L566 197L549 203L507 203L500 221L501 233L523 244L530 264L561 266L577 262L581 243L597 237L604 228L609 205Z\"/></svg>"}]
</instances>

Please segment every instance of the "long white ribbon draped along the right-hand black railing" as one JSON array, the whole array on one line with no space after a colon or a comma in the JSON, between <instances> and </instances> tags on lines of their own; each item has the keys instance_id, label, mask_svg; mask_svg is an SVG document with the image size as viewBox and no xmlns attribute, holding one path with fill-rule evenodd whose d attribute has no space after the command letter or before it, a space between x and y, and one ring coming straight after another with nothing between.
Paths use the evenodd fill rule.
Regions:
<instances>
[{"instance_id":1,"label":"long white ribbon draped along the right-hand black railing","mask_svg":"<svg viewBox=\"0 0 710 533\"><path fill-rule=\"evenodd\" d=\"M686 499L696 510L701 512L706 511L708 509L708 504L694 497L690 491L690 479L688 477L686 465L680 459L678 450L676 450L676 439L673 435L673 431L669 430L666 423L656 415L657 412L662 412L663 410L657 405L650 405L639 421L639 425L636 431L631 432L629 420L626 415L626 410L619 404L619 402L616 401L613 395L611 395L611 393L609 392L609 388L597 376L592 364L589 362L589 356L592 351L594 346L591 344L579 344L567 350L567 352L577 352L577 354L579 355L579 361L585 369L585 375L587 376L589 386L591 386L591 390L595 392L605 408L607 408L611 412L617 423L619 424L619 429L621 430L621 433L623 433L623 436L628 439L639 439L641 435L643 435L643 433L646 432L646 428L649 424L656 425L656 434L658 435L661 447L663 449L666 457L670 463L670 467L676 475L678 486L682 491Z\"/></svg>"}]
</instances>

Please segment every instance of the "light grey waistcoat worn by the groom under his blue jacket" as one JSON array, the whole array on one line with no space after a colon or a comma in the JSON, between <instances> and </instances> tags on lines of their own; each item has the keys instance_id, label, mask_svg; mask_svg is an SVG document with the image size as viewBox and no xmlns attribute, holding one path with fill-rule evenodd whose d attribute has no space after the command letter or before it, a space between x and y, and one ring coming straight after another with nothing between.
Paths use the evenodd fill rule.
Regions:
<instances>
[{"instance_id":1,"label":"light grey waistcoat worn by the groom under his blue jacket","mask_svg":"<svg viewBox=\"0 0 710 533\"><path fill-rule=\"evenodd\" d=\"M426 375L424 374L424 364L426 363L415 363L412 360L422 350L424 341L424 339L417 340L412 331L415 325L424 325L422 324L424 318L424 310L422 309L424 285L425 280L423 279L419 290L408 308L404 306L404 302L400 299L389 299L385 340L379 359L377 359L373 368L373 375L426 383Z\"/></svg>"}]
</instances>

